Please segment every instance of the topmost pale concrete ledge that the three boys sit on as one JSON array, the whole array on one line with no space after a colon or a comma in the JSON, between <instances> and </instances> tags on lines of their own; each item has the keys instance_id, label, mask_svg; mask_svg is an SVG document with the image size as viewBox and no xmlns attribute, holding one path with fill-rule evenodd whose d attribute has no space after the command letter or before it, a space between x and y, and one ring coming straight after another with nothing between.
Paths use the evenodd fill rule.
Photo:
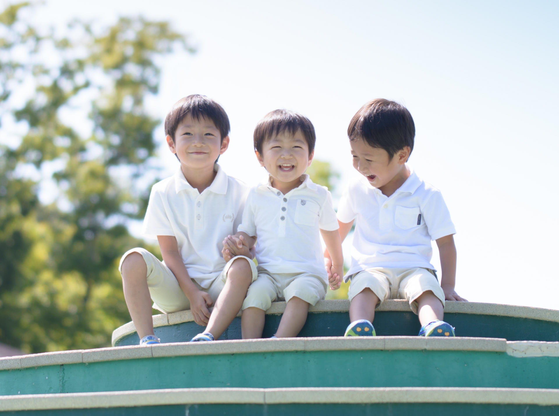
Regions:
<instances>
[{"instance_id":1,"label":"topmost pale concrete ledge that the three boys sit on","mask_svg":"<svg viewBox=\"0 0 559 416\"><path fill-rule=\"evenodd\" d=\"M267 315L279 315L285 311L286 302L273 302L272 307L266 311ZM389 299L383 302L376 309L377 311L395 311L395 312L411 312L408 301L403 299ZM319 312L348 312L349 301L347 299L337 299L328 301L319 301L315 306L309 308L311 313ZM515 318L530 318L542 321L559 322L559 311L555 309L532 308L528 306L513 306L497 303L477 303L477 302L456 302L447 301L444 306L444 312L448 313L471 313L474 315L500 315ZM237 316L241 316L241 312ZM177 325L183 322L192 322L191 311L180 311L169 313L168 315L154 315L153 326ZM133 322L125 323L116 328L112 333L112 345L116 341L131 333L136 332Z\"/></svg>"}]
</instances>

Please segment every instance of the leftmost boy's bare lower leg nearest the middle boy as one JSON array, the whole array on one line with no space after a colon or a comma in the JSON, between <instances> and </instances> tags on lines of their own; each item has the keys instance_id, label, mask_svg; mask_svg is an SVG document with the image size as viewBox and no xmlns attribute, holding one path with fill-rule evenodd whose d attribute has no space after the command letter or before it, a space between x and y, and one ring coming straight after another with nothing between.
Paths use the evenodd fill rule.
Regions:
<instances>
[{"instance_id":1,"label":"leftmost boy's bare lower leg nearest the middle boy","mask_svg":"<svg viewBox=\"0 0 559 416\"><path fill-rule=\"evenodd\" d=\"M250 283L252 283L252 269L248 260L236 259L227 272L225 287L215 301L214 310L206 327L206 332L210 332L216 340L239 313L244 298L247 297Z\"/></svg>"}]
</instances>

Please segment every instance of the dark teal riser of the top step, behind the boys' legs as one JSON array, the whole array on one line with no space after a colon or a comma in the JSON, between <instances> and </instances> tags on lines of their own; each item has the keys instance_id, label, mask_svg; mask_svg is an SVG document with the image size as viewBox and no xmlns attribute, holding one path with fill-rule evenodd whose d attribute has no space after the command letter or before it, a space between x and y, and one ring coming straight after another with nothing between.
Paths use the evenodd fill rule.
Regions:
<instances>
[{"instance_id":1,"label":"dark teal riser of the top step, behind the boys' legs","mask_svg":"<svg viewBox=\"0 0 559 416\"><path fill-rule=\"evenodd\" d=\"M456 335L463 337L506 338L509 341L559 341L559 322L539 321L495 315L446 313L444 319L456 327ZM267 315L263 337L271 337L280 325L281 315ZM347 312L309 313L301 337L343 336L349 325ZM375 330L379 336L415 336L419 332L419 320L412 312L377 312ZM205 327L195 322L155 328L155 335L162 342L187 342ZM240 340L240 318L235 318L220 340ZM127 335L116 346L138 345L138 334Z\"/></svg>"}]
</instances>

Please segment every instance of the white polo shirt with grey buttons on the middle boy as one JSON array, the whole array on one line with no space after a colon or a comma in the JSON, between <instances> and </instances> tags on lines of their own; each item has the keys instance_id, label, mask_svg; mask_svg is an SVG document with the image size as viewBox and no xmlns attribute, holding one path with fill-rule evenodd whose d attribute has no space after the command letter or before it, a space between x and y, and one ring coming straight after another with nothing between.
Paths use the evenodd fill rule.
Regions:
<instances>
[{"instance_id":1,"label":"white polo shirt with grey buttons on the middle boy","mask_svg":"<svg viewBox=\"0 0 559 416\"><path fill-rule=\"evenodd\" d=\"M256 259L268 272L307 272L328 279L320 229L339 228L332 196L309 175L302 175L301 182L286 195L269 178L252 188L239 231L257 237Z\"/></svg>"}]
</instances>

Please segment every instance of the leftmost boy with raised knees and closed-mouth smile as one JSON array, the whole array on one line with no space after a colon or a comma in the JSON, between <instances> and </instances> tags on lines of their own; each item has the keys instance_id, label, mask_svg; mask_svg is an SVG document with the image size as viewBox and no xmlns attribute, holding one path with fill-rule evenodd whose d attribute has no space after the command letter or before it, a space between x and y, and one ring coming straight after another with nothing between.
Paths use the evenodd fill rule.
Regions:
<instances>
[{"instance_id":1,"label":"leftmost boy with raised knees and closed-mouth smile","mask_svg":"<svg viewBox=\"0 0 559 416\"><path fill-rule=\"evenodd\" d=\"M151 188L143 226L146 237L159 241L163 263L135 248L119 266L140 345L160 342L153 332L151 300L164 313L191 309L195 322L207 325L192 341L219 338L257 277L251 259L225 263L220 253L219 241L236 232L248 191L216 163L229 146L225 110L206 96L189 95L167 114L165 134L180 166Z\"/></svg>"}]
</instances>

